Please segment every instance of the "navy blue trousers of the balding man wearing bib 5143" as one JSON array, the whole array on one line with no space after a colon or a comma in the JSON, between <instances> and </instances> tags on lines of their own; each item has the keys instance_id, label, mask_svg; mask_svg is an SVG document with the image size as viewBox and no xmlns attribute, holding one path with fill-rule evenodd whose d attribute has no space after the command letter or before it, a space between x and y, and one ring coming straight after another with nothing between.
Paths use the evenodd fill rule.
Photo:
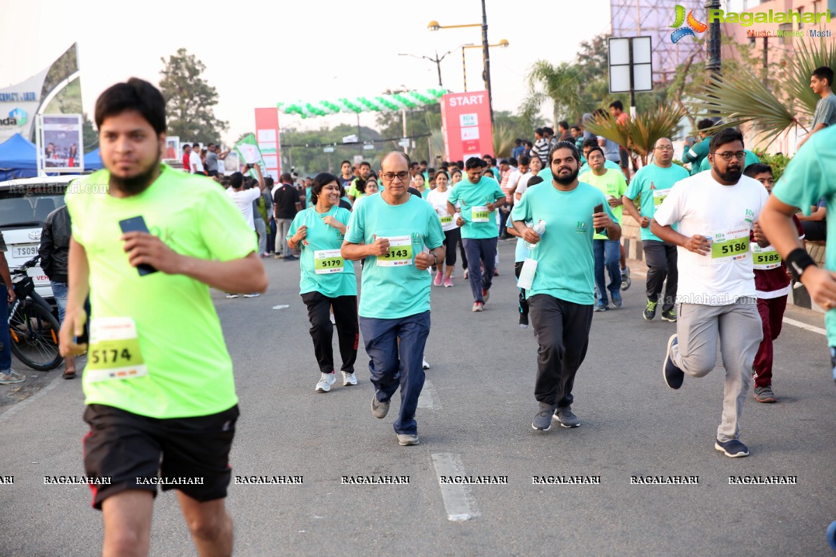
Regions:
<instances>
[{"instance_id":1,"label":"navy blue trousers of the balding man wearing bib 5143","mask_svg":"<svg viewBox=\"0 0 836 557\"><path fill-rule=\"evenodd\" d=\"M375 397L388 403L400 383L400 413L395 420L395 433L418 433L415 410L424 387L424 346L430 335L430 312L400 317L375 319L360 317L369 372L375 385ZM398 344L400 338L400 346Z\"/></svg>"}]
</instances>

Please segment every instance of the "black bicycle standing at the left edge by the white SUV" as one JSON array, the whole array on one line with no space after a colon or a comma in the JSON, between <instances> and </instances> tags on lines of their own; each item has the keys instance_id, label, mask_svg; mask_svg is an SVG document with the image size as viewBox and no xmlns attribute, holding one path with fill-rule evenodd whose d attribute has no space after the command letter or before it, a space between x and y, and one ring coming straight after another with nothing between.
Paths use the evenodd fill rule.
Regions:
<instances>
[{"instance_id":1,"label":"black bicycle standing at the left edge by the white SUV","mask_svg":"<svg viewBox=\"0 0 836 557\"><path fill-rule=\"evenodd\" d=\"M58 347L58 319L47 301L35 291L33 278L28 276L28 269L38 265L38 261L40 256L35 256L11 271L17 299L8 308L8 327L12 352L18 360L34 370L48 372L59 367L64 357Z\"/></svg>"}]
</instances>

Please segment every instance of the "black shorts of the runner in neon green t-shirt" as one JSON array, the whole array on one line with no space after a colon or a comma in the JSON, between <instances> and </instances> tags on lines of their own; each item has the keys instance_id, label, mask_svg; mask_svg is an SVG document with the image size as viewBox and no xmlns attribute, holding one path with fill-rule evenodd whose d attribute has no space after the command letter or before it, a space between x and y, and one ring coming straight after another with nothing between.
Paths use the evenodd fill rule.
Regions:
<instances>
[{"instance_id":1,"label":"black shorts of the runner in neon green t-shirt","mask_svg":"<svg viewBox=\"0 0 836 557\"><path fill-rule=\"evenodd\" d=\"M126 489L179 489L198 501L227 496L229 451L238 407L196 418L148 418L104 404L90 404L84 421L84 470L110 484L90 484L93 507Z\"/></svg>"}]
</instances>

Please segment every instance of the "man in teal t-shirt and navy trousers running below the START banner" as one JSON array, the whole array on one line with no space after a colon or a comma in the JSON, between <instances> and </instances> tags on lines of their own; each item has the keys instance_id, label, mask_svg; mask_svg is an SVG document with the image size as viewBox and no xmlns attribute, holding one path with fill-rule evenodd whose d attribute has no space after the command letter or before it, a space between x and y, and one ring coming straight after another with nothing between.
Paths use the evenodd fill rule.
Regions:
<instances>
[{"instance_id":1,"label":"man in teal t-shirt and navy trousers running below the START banner","mask_svg":"<svg viewBox=\"0 0 836 557\"><path fill-rule=\"evenodd\" d=\"M499 182L482 176L484 166L485 162L477 157L468 159L465 163L467 180L453 186L447 198L447 211L451 215L456 215L456 203L461 203L461 241L473 293L472 311L482 311L490 296L499 235L494 210L505 205L505 193Z\"/></svg>"}]
</instances>

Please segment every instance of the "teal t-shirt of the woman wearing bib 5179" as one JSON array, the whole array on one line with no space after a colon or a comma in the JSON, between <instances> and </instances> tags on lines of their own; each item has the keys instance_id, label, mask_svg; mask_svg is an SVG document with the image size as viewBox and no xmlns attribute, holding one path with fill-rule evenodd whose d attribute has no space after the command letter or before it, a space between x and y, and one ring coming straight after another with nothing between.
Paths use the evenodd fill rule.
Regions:
<instances>
[{"instance_id":1,"label":"teal t-shirt of the woman wearing bib 5179","mask_svg":"<svg viewBox=\"0 0 836 557\"><path fill-rule=\"evenodd\" d=\"M299 261L302 267L302 273L299 276L299 294L315 291L329 298L357 296L354 261L343 261L342 256L339 255L344 235L334 226L325 224L325 217L329 215L344 225L348 225L351 211L334 205L327 213L318 213L314 205L299 211L290 225L288 240L296 234L300 226L308 227L308 235L299 246L302 250L301 261ZM338 269L342 271L337 271Z\"/></svg>"}]
</instances>

